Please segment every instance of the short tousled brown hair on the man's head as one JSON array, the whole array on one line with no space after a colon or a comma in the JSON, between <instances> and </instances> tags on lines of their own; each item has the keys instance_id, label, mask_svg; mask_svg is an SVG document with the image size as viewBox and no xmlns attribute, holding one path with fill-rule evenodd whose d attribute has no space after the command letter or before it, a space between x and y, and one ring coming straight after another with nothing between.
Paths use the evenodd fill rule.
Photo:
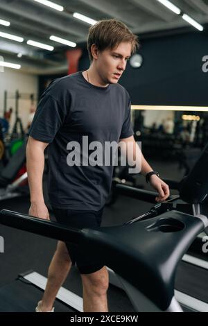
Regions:
<instances>
[{"instance_id":1,"label":"short tousled brown hair on the man's head","mask_svg":"<svg viewBox=\"0 0 208 326\"><path fill-rule=\"evenodd\" d=\"M87 38L87 50L89 60L92 62L91 46L96 44L99 51L114 49L121 42L132 44L131 54L135 53L139 46L137 35L133 34L128 27L116 19L104 19L89 28Z\"/></svg>"}]
</instances>

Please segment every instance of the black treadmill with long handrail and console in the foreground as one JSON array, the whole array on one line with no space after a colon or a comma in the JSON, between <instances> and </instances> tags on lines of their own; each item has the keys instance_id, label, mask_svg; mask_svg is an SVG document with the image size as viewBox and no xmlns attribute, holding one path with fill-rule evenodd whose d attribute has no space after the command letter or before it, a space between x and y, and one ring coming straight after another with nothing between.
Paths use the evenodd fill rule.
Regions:
<instances>
[{"instance_id":1,"label":"black treadmill with long handrail and console in the foreground","mask_svg":"<svg viewBox=\"0 0 208 326\"><path fill-rule=\"evenodd\" d=\"M182 307L174 295L177 266L208 225L207 216L201 214L208 193L207 161L208 146L182 180L180 196L155 205L125 225L78 230L8 210L1 211L0 223L96 251L119 277L136 311L179 312ZM116 191L148 202L157 196L125 185L117 185ZM177 210L182 205L188 205L192 214Z\"/></svg>"}]
</instances>

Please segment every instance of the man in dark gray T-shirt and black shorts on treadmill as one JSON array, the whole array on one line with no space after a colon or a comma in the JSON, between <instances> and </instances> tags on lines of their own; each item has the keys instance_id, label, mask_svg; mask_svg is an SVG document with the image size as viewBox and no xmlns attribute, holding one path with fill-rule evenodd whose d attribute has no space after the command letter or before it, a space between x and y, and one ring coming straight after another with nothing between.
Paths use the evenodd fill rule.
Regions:
<instances>
[{"instance_id":1,"label":"man in dark gray T-shirt and black shorts on treadmill","mask_svg":"<svg viewBox=\"0 0 208 326\"><path fill-rule=\"evenodd\" d=\"M130 123L130 98L118 81L136 47L137 37L123 23L115 19L98 22L89 28L89 69L55 80L44 92L27 146L29 214L49 219L42 193L44 149L49 146L49 197L55 218L76 228L101 225L113 166L73 165L69 149L76 144L81 146L85 137L89 144L94 141L118 144L120 140L123 144L133 144L132 151L125 154L135 159L138 146ZM85 150L80 150L78 155L88 162L89 153ZM168 186L151 172L153 169L144 157L140 157L141 173L149 173L150 185L159 193L156 200L166 200ZM103 262L93 252L61 241L49 266L46 290L36 311L53 311L55 295L75 262L83 282L84 311L107 311L108 274Z\"/></svg>"}]
</instances>

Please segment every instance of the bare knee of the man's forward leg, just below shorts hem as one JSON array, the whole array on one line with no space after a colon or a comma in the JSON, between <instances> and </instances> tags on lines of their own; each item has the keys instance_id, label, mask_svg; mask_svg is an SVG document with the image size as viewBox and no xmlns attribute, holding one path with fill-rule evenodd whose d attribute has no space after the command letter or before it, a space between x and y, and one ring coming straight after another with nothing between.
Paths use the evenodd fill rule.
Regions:
<instances>
[{"instance_id":1,"label":"bare knee of the man's forward leg, just below shorts hem","mask_svg":"<svg viewBox=\"0 0 208 326\"><path fill-rule=\"evenodd\" d=\"M104 295L109 286L107 268L103 267L100 271L91 274L82 274L83 288L85 291L95 295Z\"/></svg>"}]
</instances>

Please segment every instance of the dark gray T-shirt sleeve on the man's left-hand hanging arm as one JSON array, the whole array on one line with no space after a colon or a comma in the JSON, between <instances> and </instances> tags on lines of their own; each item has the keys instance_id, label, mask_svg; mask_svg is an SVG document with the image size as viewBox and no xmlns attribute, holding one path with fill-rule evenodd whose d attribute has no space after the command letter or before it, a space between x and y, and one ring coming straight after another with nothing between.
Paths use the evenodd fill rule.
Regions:
<instances>
[{"instance_id":1,"label":"dark gray T-shirt sleeve on the man's left-hand hanging arm","mask_svg":"<svg viewBox=\"0 0 208 326\"><path fill-rule=\"evenodd\" d=\"M45 95L40 100L28 134L46 143L51 143L64 123L67 108L61 106L51 95Z\"/></svg>"}]
</instances>

